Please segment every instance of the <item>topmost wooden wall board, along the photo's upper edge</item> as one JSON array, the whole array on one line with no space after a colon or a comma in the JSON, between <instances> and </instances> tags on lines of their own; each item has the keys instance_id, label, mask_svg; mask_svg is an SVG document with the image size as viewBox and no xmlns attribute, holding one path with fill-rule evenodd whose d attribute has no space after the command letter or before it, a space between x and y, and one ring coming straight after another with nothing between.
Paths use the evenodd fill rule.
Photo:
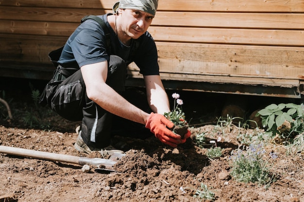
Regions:
<instances>
[{"instance_id":1,"label":"topmost wooden wall board, along the photo's upper edge","mask_svg":"<svg viewBox=\"0 0 304 202\"><path fill-rule=\"evenodd\" d=\"M112 9L118 0L0 0L1 6ZM159 0L158 11L304 12L304 0Z\"/></svg>"}]
</instances>

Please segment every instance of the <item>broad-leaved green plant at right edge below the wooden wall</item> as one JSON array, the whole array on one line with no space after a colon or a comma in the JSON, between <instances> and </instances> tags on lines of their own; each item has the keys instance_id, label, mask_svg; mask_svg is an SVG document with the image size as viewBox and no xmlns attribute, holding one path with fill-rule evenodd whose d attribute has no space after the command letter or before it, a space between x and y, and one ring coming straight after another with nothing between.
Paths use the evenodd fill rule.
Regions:
<instances>
[{"instance_id":1,"label":"broad-leaved green plant at right edge below the wooden wall","mask_svg":"<svg viewBox=\"0 0 304 202\"><path fill-rule=\"evenodd\" d=\"M257 112L262 119L263 127L267 128L272 137L276 134L282 139L292 140L297 133L304 132L303 108L301 105L271 104ZM284 124L287 123L287 126Z\"/></svg>"}]
</instances>

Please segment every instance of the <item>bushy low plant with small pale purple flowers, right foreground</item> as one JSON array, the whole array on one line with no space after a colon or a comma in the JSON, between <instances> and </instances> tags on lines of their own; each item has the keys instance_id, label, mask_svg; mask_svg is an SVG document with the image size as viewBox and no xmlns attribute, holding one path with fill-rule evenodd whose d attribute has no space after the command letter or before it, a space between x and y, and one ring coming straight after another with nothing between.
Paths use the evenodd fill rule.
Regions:
<instances>
[{"instance_id":1,"label":"bushy low plant with small pale purple flowers, right foreground","mask_svg":"<svg viewBox=\"0 0 304 202\"><path fill-rule=\"evenodd\" d=\"M270 177L269 163L262 158L264 154L265 149L262 144L250 145L246 151L234 150L231 154L231 176L240 182L269 184L272 177Z\"/></svg>"}]
</instances>

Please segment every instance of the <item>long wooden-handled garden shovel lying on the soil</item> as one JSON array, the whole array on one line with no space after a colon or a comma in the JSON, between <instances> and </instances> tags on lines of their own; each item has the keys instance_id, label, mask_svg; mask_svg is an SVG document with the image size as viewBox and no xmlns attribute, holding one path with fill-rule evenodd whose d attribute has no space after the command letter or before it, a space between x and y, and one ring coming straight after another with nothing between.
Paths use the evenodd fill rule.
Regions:
<instances>
[{"instance_id":1,"label":"long wooden-handled garden shovel lying on the soil","mask_svg":"<svg viewBox=\"0 0 304 202\"><path fill-rule=\"evenodd\" d=\"M21 149L16 147L7 147L7 146L0 146L0 153L5 153L9 155L18 155L24 157L32 157L41 160L48 160L48 161L59 161L59 162L66 162L66 163L74 163L79 165L92 165L97 166L99 169L102 170L100 167L110 168L113 167L117 161L124 156L125 154L115 154L111 156L111 159L103 159L103 158L88 158L88 157L79 157L73 155L62 155L62 154L55 154L50 152L41 152L29 149ZM112 160L113 159L113 160ZM108 169L105 169L110 171Z\"/></svg>"}]
</instances>

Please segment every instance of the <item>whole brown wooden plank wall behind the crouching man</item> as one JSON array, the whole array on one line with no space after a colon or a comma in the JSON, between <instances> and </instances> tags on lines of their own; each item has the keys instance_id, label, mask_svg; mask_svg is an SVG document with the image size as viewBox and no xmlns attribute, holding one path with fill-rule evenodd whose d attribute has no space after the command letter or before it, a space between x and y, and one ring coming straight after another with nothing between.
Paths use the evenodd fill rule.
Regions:
<instances>
[{"instance_id":1,"label":"whole brown wooden plank wall behind the crouching man","mask_svg":"<svg viewBox=\"0 0 304 202\"><path fill-rule=\"evenodd\" d=\"M49 79L48 52L116 0L0 0L0 75ZM165 87L300 98L304 0L160 0L148 29ZM128 85L142 85L135 64ZM231 88L229 88L229 85Z\"/></svg>"}]
</instances>

